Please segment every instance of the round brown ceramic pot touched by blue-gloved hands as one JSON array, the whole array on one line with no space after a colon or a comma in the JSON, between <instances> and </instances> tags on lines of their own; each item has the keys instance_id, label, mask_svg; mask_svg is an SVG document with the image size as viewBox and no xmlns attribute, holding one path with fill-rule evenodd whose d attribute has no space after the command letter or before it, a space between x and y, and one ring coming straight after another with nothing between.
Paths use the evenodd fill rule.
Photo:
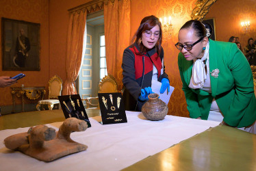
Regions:
<instances>
[{"instance_id":1,"label":"round brown ceramic pot touched by blue-gloved hands","mask_svg":"<svg viewBox=\"0 0 256 171\"><path fill-rule=\"evenodd\" d=\"M159 95L149 94L149 101L142 106L142 114L148 120L163 120L168 113L168 106L159 98Z\"/></svg>"}]
</instances>

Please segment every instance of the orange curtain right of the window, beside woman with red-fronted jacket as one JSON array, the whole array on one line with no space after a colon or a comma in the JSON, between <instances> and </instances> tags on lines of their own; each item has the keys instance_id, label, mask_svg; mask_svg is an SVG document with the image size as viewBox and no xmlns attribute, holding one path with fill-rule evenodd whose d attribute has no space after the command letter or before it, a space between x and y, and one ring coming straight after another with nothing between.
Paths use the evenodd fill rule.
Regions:
<instances>
[{"instance_id":1,"label":"orange curtain right of the window, beside woman with red-fronted jacket","mask_svg":"<svg viewBox=\"0 0 256 171\"><path fill-rule=\"evenodd\" d=\"M104 5L105 49L107 73L118 82L118 90L123 86L123 51L130 43L131 0L115 0Z\"/></svg>"}]
</instances>

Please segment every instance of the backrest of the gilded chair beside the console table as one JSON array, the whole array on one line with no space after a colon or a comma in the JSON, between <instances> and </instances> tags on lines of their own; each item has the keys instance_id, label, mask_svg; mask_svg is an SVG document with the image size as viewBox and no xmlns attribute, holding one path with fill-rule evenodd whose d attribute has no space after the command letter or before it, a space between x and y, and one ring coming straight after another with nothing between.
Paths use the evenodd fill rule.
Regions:
<instances>
[{"instance_id":1,"label":"backrest of the gilded chair beside the console table","mask_svg":"<svg viewBox=\"0 0 256 171\"><path fill-rule=\"evenodd\" d=\"M49 80L49 98L57 98L62 94L62 79L54 75Z\"/></svg>"}]
</instances>

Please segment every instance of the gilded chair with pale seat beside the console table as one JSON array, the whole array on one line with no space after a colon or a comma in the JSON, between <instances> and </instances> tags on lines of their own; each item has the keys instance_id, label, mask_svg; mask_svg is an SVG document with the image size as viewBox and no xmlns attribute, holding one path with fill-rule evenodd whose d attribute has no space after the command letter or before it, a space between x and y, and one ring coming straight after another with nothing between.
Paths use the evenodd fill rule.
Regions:
<instances>
[{"instance_id":1,"label":"gilded chair with pale seat beside the console table","mask_svg":"<svg viewBox=\"0 0 256 171\"><path fill-rule=\"evenodd\" d=\"M44 105L47 105L50 110L53 109L54 105L58 105L60 108L60 101L57 99L57 96L60 96L62 92L62 79L57 75L54 75L49 80L49 99L38 101L36 109L40 110L40 107L44 110Z\"/></svg>"}]
</instances>

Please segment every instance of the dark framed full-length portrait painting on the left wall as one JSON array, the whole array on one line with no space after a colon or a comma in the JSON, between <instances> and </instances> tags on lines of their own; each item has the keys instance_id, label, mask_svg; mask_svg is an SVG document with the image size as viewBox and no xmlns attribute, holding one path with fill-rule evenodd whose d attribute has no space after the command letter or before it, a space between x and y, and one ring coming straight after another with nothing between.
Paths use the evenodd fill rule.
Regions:
<instances>
[{"instance_id":1,"label":"dark framed full-length portrait painting on the left wall","mask_svg":"<svg viewBox=\"0 0 256 171\"><path fill-rule=\"evenodd\" d=\"M40 24L2 19L2 69L40 70Z\"/></svg>"}]
</instances>

